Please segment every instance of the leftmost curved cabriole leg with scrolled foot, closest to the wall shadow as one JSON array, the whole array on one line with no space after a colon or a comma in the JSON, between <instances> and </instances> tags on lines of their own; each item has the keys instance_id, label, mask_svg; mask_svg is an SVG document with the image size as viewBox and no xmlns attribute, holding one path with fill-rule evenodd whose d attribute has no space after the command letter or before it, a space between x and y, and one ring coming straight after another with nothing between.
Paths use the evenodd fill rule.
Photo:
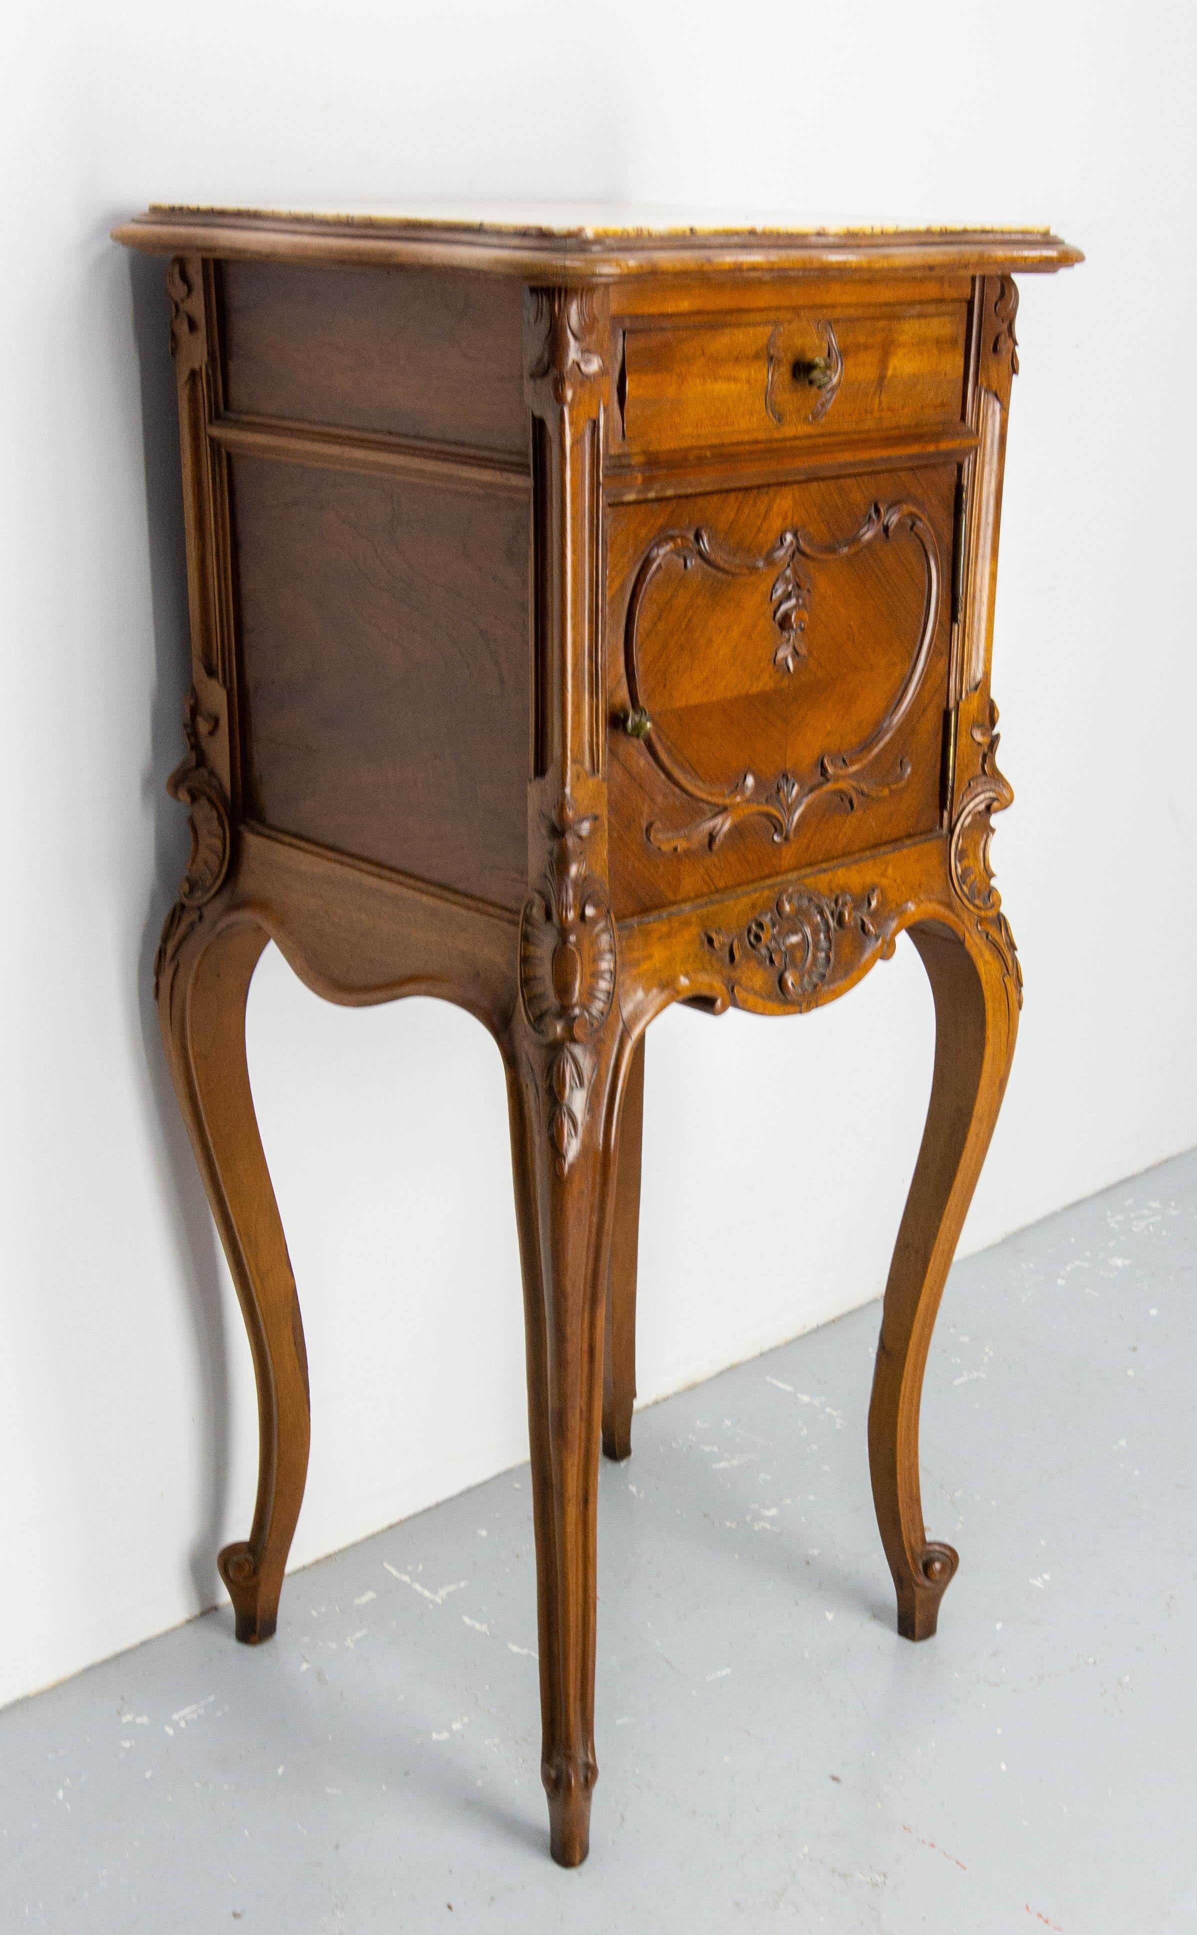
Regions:
<instances>
[{"instance_id":1,"label":"leftmost curved cabriole leg with scrolled foot, closest to the wall shadow","mask_svg":"<svg viewBox=\"0 0 1197 1935\"><path fill-rule=\"evenodd\" d=\"M269 1639L307 1476L307 1353L246 1066L246 1000L263 927L176 906L159 952L162 1041L224 1256L257 1382L257 1503L246 1542L219 1556L236 1635Z\"/></svg>"}]
</instances>

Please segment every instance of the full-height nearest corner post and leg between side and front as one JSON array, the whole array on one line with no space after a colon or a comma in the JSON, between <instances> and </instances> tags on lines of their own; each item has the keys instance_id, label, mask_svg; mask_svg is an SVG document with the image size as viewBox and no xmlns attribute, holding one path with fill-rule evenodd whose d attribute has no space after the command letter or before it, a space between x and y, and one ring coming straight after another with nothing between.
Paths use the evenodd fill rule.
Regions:
<instances>
[{"instance_id":1,"label":"full-height nearest corner post and leg between side and front","mask_svg":"<svg viewBox=\"0 0 1197 1935\"><path fill-rule=\"evenodd\" d=\"M601 673L601 290L532 288L534 729L518 1004L507 1045L524 1204L541 1780L553 1858L586 1858L594 1757L596 1492L621 1086L607 898Z\"/></svg>"}]
</instances>

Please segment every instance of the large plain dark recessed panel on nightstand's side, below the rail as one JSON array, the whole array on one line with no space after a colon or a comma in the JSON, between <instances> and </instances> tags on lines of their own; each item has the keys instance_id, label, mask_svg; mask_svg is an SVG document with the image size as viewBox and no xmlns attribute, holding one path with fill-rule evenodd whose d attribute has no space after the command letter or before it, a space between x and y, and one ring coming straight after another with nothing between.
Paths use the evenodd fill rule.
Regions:
<instances>
[{"instance_id":1,"label":"large plain dark recessed panel on nightstand's side, below the rail","mask_svg":"<svg viewBox=\"0 0 1197 1935\"><path fill-rule=\"evenodd\" d=\"M232 462L249 817L518 908L528 505Z\"/></svg>"}]
</instances>

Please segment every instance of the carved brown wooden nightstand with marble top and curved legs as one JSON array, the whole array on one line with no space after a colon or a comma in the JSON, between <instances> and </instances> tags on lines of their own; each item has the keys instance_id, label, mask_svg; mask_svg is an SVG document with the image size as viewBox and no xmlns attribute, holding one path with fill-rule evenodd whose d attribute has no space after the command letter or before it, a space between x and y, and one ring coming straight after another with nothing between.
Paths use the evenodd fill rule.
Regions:
<instances>
[{"instance_id":1,"label":"carved brown wooden nightstand with marble top and curved legs","mask_svg":"<svg viewBox=\"0 0 1197 1935\"><path fill-rule=\"evenodd\" d=\"M331 1000L443 995L503 1053L524 1262L543 1782L588 1846L599 1420L634 1395L644 1031L801 1014L907 929L936 1066L868 1449L897 1623L957 1556L919 1397L1013 1053L988 865L1015 271L1046 232L153 209L174 257L191 861L162 1037L261 1414L238 1639L307 1467L300 1304L246 1070L275 940Z\"/></svg>"}]
</instances>

